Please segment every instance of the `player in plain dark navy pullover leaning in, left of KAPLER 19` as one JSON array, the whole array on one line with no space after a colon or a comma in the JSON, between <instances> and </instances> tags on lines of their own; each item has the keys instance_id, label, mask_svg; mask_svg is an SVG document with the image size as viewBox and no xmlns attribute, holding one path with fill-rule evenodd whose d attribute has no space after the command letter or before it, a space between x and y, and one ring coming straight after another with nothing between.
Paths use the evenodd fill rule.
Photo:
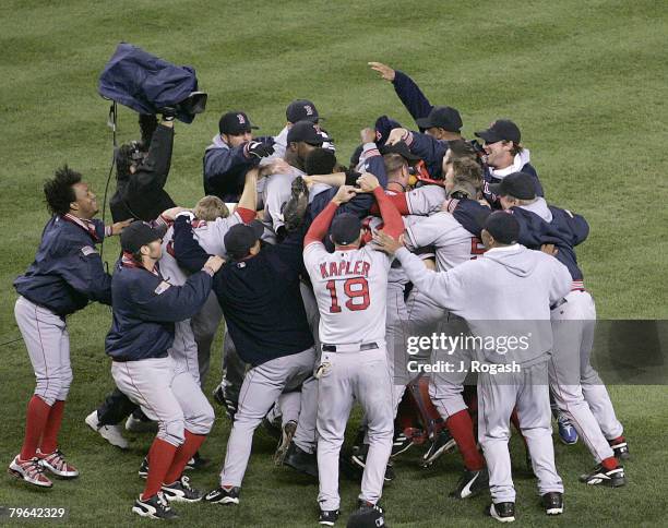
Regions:
<instances>
[{"instance_id":1,"label":"player in plain dark navy pullover leaning in, left of KAPLER 19","mask_svg":"<svg viewBox=\"0 0 668 528\"><path fill-rule=\"evenodd\" d=\"M175 229L179 228L176 224ZM284 389L297 388L312 375L315 361L300 292L303 231L289 233L279 244L262 247L263 230L259 221L228 230L224 243L230 263L214 286L239 356L251 368L241 386L220 485L205 496L211 503L239 503L254 430ZM177 247L177 256L180 251L190 255L199 251L201 259L206 257L192 236L190 240L184 236L183 241L190 247Z\"/></svg>"}]
</instances>

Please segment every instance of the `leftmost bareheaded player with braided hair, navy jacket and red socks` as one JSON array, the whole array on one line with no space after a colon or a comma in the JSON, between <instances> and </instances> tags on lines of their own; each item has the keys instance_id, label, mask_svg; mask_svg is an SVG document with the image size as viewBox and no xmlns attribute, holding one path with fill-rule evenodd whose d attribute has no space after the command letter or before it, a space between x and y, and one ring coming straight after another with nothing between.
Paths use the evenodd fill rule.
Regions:
<instances>
[{"instance_id":1,"label":"leftmost bareheaded player with braided hair, navy jacket and red socks","mask_svg":"<svg viewBox=\"0 0 668 528\"><path fill-rule=\"evenodd\" d=\"M65 316L88 301L111 303L111 277L95 244L118 235L129 223L107 226L93 219L97 200L88 183L67 165L44 185L51 218L44 228L35 261L14 280L16 324L35 371L25 437L10 472L31 484L51 488L44 470L57 477L79 476L58 447L58 432L72 383L70 336Z\"/></svg>"}]
</instances>

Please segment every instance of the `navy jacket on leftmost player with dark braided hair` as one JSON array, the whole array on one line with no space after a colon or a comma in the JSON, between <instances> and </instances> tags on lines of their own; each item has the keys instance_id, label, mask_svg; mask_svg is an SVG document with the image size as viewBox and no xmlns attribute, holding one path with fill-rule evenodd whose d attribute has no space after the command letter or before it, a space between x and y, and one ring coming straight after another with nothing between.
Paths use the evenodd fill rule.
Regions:
<instances>
[{"instance_id":1,"label":"navy jacket on leftmost player with dark braided hair","mask_svg":"<svg viewBox=\"0 0 668 528\"><path fill-rule=\"evenodd\" d=\"M16 291L58 315L68 315L88 301L111 304L111 276L95 250L105 236L100 220L92 233L63 216L52 216L41 233L35 261L14 280Z\"/></svg>"}]
</instances>

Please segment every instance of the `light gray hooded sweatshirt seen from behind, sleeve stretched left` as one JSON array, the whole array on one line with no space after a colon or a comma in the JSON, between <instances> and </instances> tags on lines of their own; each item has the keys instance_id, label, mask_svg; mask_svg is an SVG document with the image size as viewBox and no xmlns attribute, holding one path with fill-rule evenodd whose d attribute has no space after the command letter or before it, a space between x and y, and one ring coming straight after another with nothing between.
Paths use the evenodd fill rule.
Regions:
<instances>
[{"instance_id":1,"label":"light gray hooded sweatshirt seen from behind, sleeve stretched left","mask_svg":"<svg viewBox=\"0 0 668 528\"><path fill-rule=\"evenodd\" d=\"M407 249L396 257L410 281L434 302L466 320L466 348L481 362L529 365L552 349L550 304L571 290L557 259L514 244L494 248L448 272L432 272Z\"/></svg>"}]
</instances>

